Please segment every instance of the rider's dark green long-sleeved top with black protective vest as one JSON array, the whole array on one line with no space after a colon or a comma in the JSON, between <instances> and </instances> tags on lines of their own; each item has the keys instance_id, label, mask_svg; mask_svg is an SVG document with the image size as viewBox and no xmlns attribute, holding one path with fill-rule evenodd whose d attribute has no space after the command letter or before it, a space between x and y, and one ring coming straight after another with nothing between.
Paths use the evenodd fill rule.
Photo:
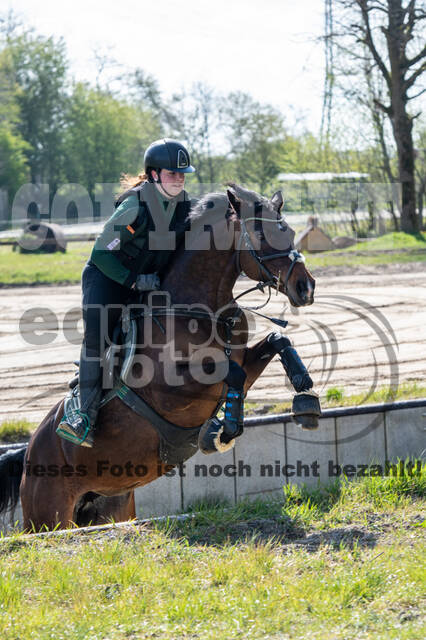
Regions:
<instances>
[{"instance_id":1,"label":"rider's dark green long-sleeved top with black protective vest","mask_svg":"<svg viewBox=\"0 0 426 640\"><path fill-rule=\"evenodd\" d=\"M146 182L120 196L116 206L96 239L90 261L129 288L141 273L156 271L161 277L188 229L188 194L182 191L163 200L155 185Z\"/></svg>"}]
</instances>

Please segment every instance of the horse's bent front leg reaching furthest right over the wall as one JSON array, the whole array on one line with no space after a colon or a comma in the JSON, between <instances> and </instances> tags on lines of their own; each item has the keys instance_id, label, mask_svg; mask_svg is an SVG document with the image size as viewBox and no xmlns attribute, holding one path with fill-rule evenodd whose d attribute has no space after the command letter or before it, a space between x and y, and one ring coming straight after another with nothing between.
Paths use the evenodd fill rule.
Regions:
<instances>
[{"instance_id":1,"label":"horse's bent front leg reaching furthest right over the wall","mask_svg":"<svg viewBox=\"0 0 426 640\"><path fill-rule=\"evenodd\" d=\"M304 429L316 429L321 407L318 395L312 390L313 382L305 365L290 340L277 332L247 347L244 358L244 371L247 375L245 392L250 389L265 367L275 355L279 355L283 368L293 385L296 395L293 397L293 414Z\"/></svg>"}]
</instances>

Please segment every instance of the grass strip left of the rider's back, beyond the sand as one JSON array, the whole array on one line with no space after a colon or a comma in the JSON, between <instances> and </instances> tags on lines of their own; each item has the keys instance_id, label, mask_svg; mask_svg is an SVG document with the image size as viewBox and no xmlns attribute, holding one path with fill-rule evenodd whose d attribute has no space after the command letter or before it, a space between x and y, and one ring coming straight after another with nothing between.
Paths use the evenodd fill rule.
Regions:
<instances>
[{"instance_id":1,"label":"grass strip left of the rider's back, beyond the sand","mask_svg":"<svg viewBox=\"0 0 426 640\"><path fill-rule=\"evenodd\" d=\"M71 242L66 253L20 254L0 246L0 285L78 283L93 242Z\"/></svg>"}]
</instances>

